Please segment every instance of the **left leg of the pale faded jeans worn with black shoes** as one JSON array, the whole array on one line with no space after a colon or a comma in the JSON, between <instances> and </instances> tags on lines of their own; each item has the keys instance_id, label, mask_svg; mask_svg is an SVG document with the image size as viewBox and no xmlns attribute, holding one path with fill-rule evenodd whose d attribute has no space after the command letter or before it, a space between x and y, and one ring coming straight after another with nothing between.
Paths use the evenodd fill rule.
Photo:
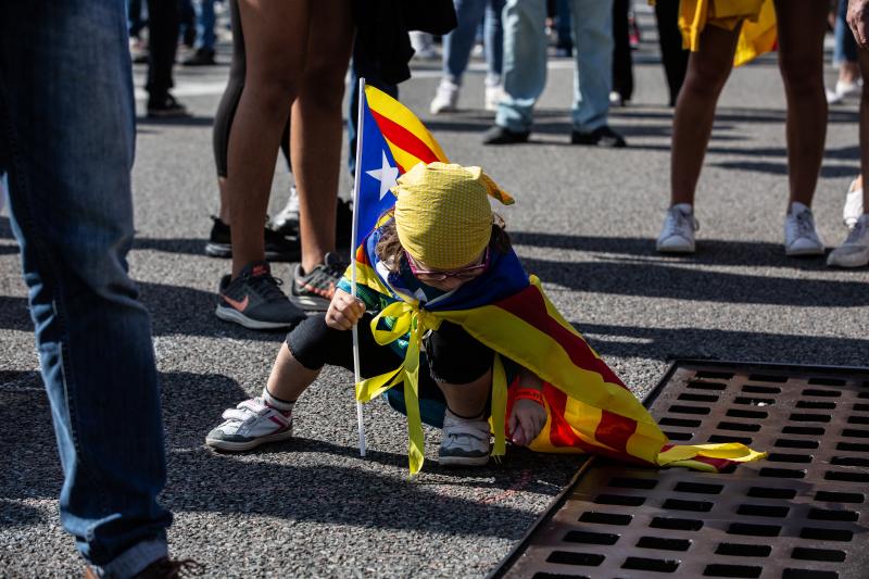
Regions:
<instances>
[{"instance_id":1,"label":"left leg of the pale faded jeans worn with black shoes","mask_svg":"<svg viewBox=\"0 0 869 579\"><path fill-rule=\"evenodd\" d=\"M504 7L504 97L495 124L515 133L531 129L534 103L546 85L545 20L543 0L507 0Z\"/></svg>"}]
</instances>

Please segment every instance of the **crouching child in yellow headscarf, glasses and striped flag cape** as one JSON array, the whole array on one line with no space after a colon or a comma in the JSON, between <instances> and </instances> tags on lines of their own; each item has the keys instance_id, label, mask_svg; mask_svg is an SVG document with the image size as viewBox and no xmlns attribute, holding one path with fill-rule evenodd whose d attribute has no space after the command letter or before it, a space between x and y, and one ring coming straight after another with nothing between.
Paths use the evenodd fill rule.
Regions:
<instances>
[{"instance_id":1,"label":"crouching child in yellow headscarf, glasses and striped flag cape","mask_svg":"<svg viewBox=\"0 0 869 579\"><path fill-rule=\"evenodd\" d=\"M289 439L295 401L323 366L353 368L356 325L365 377L356 398L386 393L406 414L412 474L424 461L423 423L443 429L442 465L484 465L507 438L539 452L710 471L765 456L740 443L670 443L525 273L489 204L513 199L479 167L420 163L393 192L394 210L356 252L326 314L289 333L262 394L224 412L207 445Z\"/></svg>"}]
</instances>

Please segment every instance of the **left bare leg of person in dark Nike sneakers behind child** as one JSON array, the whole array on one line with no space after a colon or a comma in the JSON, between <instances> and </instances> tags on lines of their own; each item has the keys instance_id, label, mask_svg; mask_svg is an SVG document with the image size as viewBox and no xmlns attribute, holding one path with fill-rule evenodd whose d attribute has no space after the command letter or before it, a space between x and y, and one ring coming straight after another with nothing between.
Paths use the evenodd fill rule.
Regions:
<instances>
[{"instance_id":1,"label":"left bare leg of person in dark Nike sneakers behind child","mask_svg":"<svg viewBox=\"0 0 869 579\"><path fill-rule=\"evenodd\" d=\"M239 0L247 72L229 135L226 190L232 221L232 277L265 257L263 224L278 147L301 88L312 2Z\"/></svg>"}]
</instances>

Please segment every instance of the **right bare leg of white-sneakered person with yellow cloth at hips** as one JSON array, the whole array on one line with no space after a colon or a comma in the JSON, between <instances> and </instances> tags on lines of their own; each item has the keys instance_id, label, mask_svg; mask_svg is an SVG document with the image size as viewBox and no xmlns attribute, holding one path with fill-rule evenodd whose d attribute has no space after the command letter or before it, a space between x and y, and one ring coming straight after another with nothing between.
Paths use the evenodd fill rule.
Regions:
<instances>
[{"instance_id":1,"label":"right bare leg of white-sneakered person with yellow cloth at hips","mask_svg":"<svg viewBox=\"0 0 869 579\"><path fill-rule=\"evenodd\" d=\"M827 98L823 92L826 0L776 0L779 27L779 67L788 97L788 206L811 205L827 138Z\"/></svg>"}]
</instances>

